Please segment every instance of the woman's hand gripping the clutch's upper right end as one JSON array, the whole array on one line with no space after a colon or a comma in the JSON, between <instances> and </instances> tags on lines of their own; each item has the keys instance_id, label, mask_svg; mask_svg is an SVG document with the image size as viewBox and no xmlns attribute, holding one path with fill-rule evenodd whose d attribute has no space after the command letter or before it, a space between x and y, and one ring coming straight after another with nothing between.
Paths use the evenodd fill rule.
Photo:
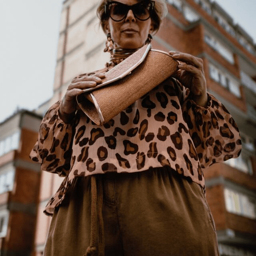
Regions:
<instances>
[{"instance_id":1,"label":"woman's hand gripping the clutch's upper right end","mask_svg":"<svg viewBox=\"0 0 256 256\"><path fill-rule=\"evenodd\" d=\"M208 96L203 60L188 53L170 51L169 54L172 55L172 58L181 62L178 65L179 70L173 77L190 89L196 104L205 107Z\"/></svg>"}]
</instances>

